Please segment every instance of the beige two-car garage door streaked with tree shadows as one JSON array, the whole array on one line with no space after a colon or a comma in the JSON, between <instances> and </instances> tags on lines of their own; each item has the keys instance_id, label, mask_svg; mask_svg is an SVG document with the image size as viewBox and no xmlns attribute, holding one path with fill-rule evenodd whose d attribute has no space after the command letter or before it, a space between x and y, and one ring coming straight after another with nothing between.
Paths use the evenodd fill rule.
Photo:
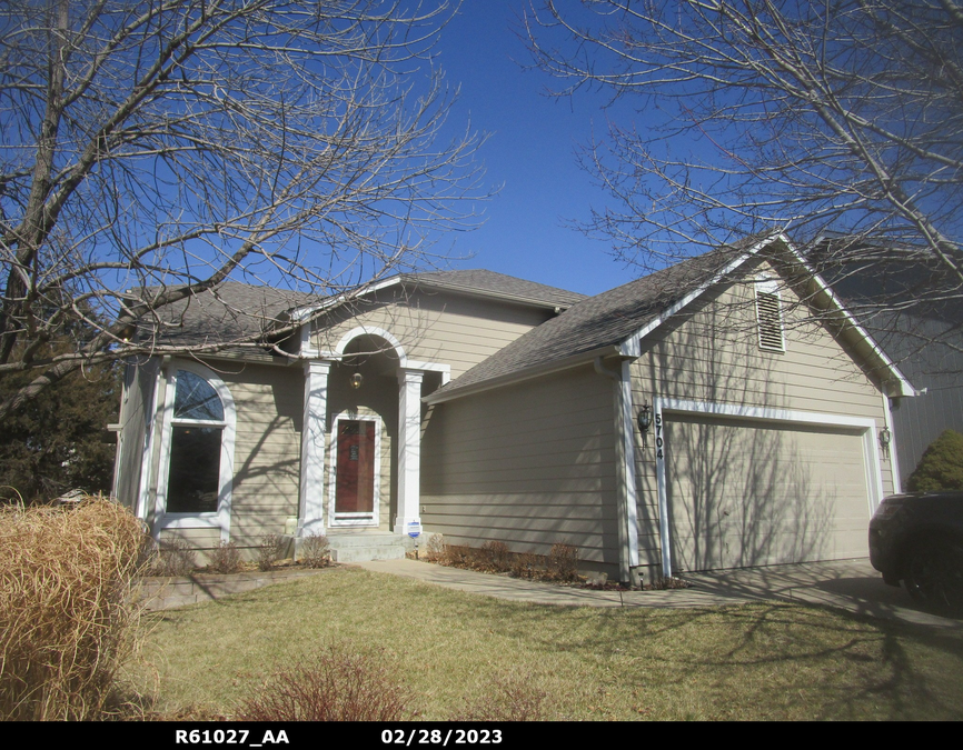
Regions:
<instances>
[{"instance_id":1,"label":"beige two-car garage door streaked with tree shadows","mask_svg":"<svg viewBox=\"0 0 963 750\"><path fill-rule=\"evenodd\" d=\"M865 557L855 431L665 414L673 570Z\"/></svg>"}]
</instances>

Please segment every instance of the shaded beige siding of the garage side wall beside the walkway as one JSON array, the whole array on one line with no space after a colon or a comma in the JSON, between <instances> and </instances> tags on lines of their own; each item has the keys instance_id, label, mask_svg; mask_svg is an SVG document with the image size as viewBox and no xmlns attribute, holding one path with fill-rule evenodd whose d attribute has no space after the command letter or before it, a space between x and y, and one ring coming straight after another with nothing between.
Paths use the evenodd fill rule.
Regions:
<instances>
[{"instance_id":1,"label":"shaded beige siding of the garage side wall beside the walkway","mask_svg":"<svg viewBox=\"0 0 963 750\"><path fill-rule=\"evenodd\" d=\"M423 523L453 543L508 543L617 564L613 383L590 367L434 407Z\"/></svg>"}]
</instances>

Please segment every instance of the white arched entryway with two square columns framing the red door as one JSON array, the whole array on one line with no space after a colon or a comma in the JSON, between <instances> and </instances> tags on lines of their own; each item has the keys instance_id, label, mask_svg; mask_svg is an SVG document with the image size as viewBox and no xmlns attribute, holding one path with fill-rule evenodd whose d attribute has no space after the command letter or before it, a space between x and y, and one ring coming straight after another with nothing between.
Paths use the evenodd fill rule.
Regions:
<instances>
[{"instance_id":1,"label":"white arched entryway with two square columns framing the red door","mask_svg":"<svg viewBox=\"0 0 963 750\"><path fill-rule=\"evenodd\" d=\"M420 521L423 380L437 387L447 366L413 361L390 332L359 327L305 374L301 536L406 533Z\"/></svg>"}]
</instances>

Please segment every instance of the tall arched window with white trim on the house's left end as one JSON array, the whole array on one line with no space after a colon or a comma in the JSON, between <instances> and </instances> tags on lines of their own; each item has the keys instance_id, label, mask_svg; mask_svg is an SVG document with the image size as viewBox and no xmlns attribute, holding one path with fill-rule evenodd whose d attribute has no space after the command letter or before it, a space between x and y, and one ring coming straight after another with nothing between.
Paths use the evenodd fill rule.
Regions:
<instances>
[{"instance_id":1,"label":"tall arched window with white trim on the house's left end","mask_svg":"<svg viewBox=\"0 0 963 750\"><path fill-rule=\"evenodd\" d=\"M235 411L214 372L195 363L172 369L167 387L158 517L161 528L230 528Z\"/></svg>"}]
</instances>

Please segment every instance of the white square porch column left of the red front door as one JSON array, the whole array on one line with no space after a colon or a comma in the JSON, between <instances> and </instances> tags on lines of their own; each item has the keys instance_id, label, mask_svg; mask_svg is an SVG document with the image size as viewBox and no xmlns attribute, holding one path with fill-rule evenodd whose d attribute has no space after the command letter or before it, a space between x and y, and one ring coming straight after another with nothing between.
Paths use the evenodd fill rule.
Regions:
<instances>
[{"instance_id":1,"label":"white square porch column left of the red front door","mask_svg":"<svg viewBox=\"0 0 963 750\"><path fill-rule=\"evenodd\" d=\"M301 423L301 482L298 536L325 532L325 422L329 361L305 362L305 416Z\"/></svg>"}]
</instances>

